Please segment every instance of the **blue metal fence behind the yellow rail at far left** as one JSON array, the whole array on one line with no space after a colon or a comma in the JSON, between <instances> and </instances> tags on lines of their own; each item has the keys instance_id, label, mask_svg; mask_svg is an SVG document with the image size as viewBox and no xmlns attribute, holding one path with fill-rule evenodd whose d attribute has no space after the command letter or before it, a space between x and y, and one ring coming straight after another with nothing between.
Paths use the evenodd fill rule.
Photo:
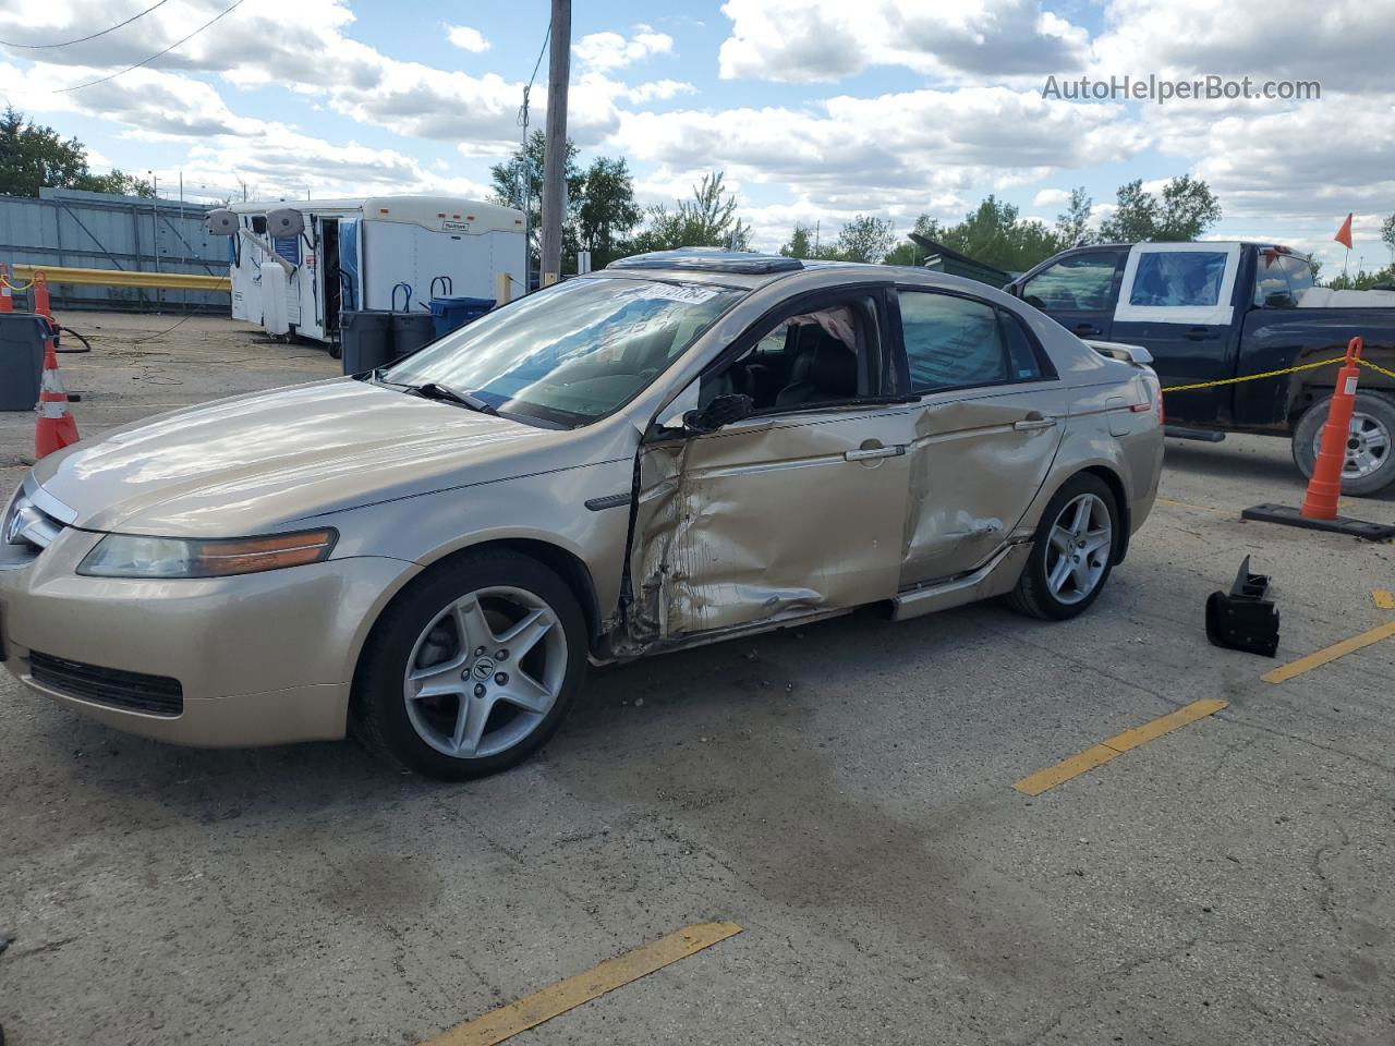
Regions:
<instances>
[{"instance_id":1,"label":"blue metal fence behind the yellow rail at far left","mask_svg":"<svg viewBox=\"0 0 1395 1046\"><path fill-rule=\"evenodd\" d=\"M201 204L45 188L0 195L0 261L127 272L227 275L227 237L204 230ZM227 312L226 291L85 287L49 280L63 308Z\"/></svg>"}]
</instances>

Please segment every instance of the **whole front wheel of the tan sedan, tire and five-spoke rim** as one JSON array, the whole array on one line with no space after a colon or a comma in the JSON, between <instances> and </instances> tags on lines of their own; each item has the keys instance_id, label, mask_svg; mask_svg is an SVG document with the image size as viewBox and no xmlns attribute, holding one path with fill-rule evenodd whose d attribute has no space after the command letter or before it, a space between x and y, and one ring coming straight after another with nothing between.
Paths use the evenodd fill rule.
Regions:
<instances>
[{"instance_id":1,"label":"whole front wheel of the tan sedan, tire and five-spoke rim","mask_svg":"<svg viewBox=\"0 0 1395 1046\"><path fill-rule=\"evenodd\" d=\"M585 619L566 584L515 552L466 554L407 590L374 629L354 731L428 777L492 774L555 732L585 672Z\"/></svg>"}]
</instances>

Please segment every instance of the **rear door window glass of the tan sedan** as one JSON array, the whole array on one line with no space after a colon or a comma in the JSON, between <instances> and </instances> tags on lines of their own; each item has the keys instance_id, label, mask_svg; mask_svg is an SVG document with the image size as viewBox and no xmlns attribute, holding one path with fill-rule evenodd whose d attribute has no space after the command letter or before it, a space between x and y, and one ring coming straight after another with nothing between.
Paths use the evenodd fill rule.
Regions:
<instances>
[{"instance_id":1,"label":"rear door window glass of the tan sedan","mask_svg":"<svg viewBox=\"0 0 1395 1046\"><path fill-rule=\"evenodd\" d=\"M1042 377L1021 324L986 301L900 290L912 392L939 392ZM1003 322L1006 321L1006 324Z\"/></svg>"}]
</instances>

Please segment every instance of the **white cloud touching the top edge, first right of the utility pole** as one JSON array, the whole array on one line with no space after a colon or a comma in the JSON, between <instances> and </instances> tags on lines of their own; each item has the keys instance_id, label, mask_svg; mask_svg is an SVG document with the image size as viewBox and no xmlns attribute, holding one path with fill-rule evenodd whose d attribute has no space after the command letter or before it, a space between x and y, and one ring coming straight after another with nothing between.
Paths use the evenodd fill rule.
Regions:
<instances>
[{"instance_id":1,"label":"white cloud touching the top edge, first right of the utility pole","mask_svg":"<svg viewBox=\"0 0 1395 1046\"><path fill-rule=\"evenodd\" d=\"M870 66L1011 75L1081 67L1084 29L1041 0L727 0L724 79L837 81Z\"/></svg>"}]
</instances>

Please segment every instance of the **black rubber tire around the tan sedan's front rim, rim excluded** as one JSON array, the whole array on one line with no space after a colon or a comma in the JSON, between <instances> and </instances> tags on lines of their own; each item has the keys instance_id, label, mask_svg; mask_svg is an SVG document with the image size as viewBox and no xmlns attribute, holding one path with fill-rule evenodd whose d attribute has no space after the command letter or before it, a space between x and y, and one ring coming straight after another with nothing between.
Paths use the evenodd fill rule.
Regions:
<instances>
[{"instance_id":1,"label":"black rubber tire around the tan sedan's front rim, rim excluded","mask_svg":"<svg viewBox=\"0 0 1395 1046\"><path fill-rule=\"evenodd\" d=\"M566 642L565 674L551 710L518 743L478 757L451 756L432 748L413 725L405 699L407 660L423 630L445 608L470 593L495 587L523 590L552 609ZM586 678L586 619L561 577L536 559L508 549L463 552L413 582L378 619L359 660L350 727L374 755L427 777L463 781L495 774L522 763L557 732ZM484 681L492 683L488 675ZM502 702L495 707L505 708L505 714L511 710Z\"/></svg>"}]
</instances>

